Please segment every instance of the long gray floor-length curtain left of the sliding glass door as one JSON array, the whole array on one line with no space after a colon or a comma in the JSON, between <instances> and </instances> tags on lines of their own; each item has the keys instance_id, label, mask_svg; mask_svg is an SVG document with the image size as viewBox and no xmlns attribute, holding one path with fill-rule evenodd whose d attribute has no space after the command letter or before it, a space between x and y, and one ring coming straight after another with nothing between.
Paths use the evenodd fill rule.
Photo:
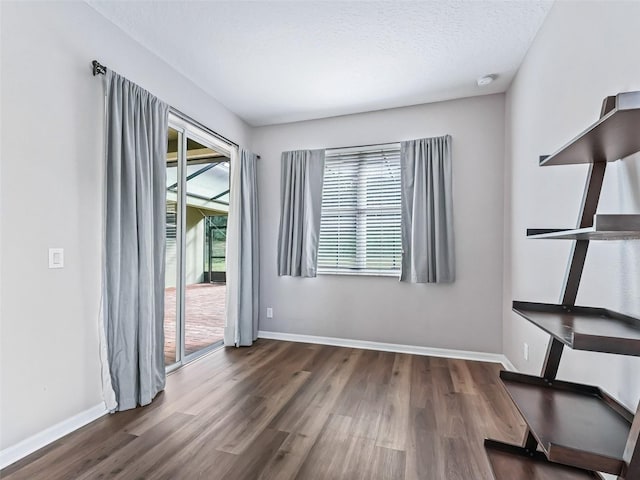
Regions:
<instances>
[{"instance_id":1,"label":"long gray floor-length curtain left of the sliding glass door","mask_svg":"<svg viewBox=\"0 0 640 480\"><path fill-rule=\"evenodd\" d=\"M103 310L118 410L164 388L168 106L108 71Z\"/></svg>"}]
</instances>

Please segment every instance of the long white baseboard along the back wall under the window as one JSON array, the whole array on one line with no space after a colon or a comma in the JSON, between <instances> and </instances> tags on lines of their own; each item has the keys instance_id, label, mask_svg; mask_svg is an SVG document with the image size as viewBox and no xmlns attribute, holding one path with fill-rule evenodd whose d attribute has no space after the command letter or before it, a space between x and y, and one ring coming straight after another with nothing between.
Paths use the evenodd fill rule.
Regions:
<instances>
[{"instance_id":1,"label":"long white baseboard along the back wall under the window","mask_svg":"<svg viewBox=\"0 0 640 480\"><path fill-rule=\"evenodd\" d=\"M335 347L362 348L364 350L378 350L381 352L410 353L431 357L458 358L462 360L477 360L480 362L500 363L507 370L515 371L509 359L501 353L471 352L467 350L451 350L448 348L431 348L417 345L401 345L397 343L370 342L367 340L351 340L347 338L317 337L315 335L299 335L297 333L266 332L260 330L258 338L284 340L288 342L316 343Z\"/></svg>"}]
</instances>

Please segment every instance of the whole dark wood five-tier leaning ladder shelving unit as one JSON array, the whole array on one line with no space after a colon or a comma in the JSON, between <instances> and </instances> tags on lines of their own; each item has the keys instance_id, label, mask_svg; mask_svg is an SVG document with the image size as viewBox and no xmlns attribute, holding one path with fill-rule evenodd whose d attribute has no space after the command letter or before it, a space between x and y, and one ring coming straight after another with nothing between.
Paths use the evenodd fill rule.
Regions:
<instances>
[{"instance_id":1,"label":"whole dark wood five-tier leaning ladder shelving unit","mask_svg":"<svg viewBox=\"0 0 640 480\"><path fill-rule=\"evenodd\" d=\"M501 372L528 425L523 445L485 440L497 480L640 480L640 406L630 412L597 387L556 380L565 346L640 356L640 319L575 305L592 240L640 238L640 215L597 215L608 162L640 151L640 92L607 97L600 119L540 165L589 163L578 226L530 229L528 238L573 240L559 304L513 302L513 310L550 335L539 377Z\"/></svg>"}]
</instances>

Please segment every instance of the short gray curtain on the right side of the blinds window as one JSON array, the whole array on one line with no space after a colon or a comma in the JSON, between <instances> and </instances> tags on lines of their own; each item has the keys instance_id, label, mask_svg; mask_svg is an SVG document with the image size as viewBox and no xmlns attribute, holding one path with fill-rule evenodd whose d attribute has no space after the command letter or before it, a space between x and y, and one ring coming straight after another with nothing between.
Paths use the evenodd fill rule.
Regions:
<instances>
[{"instance_id":1,"label":"short gray curtain on the right side of the blinds window","mask_svg":"<svg viewBox=\"0 0 640 480\"><path fill-rule=\"evenodd\" d=\"M402 273L412 283L455 280L451 136L402 142Z\"/></svg>"}]
</instances>

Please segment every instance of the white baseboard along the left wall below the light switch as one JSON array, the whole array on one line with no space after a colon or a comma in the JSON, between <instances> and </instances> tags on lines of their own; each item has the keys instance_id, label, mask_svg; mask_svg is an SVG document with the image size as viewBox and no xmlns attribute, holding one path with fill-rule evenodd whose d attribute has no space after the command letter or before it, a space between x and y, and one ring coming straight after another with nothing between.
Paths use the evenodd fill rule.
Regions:
<instances>
[{"instance_id":1,"label":"white baseboard along the left wall below the light switch","mask_svg":"<svg viewBox=\"0 0 640 480\"><path fill-rule=\"evenodd\" d=\"M19 443L0 450L0 468L5 468L12 463L26 457L36 450L46 447L50 443L64 437L74 430L84 427L107 413L104 403L91 407L84 412L80 412L71 418L67 418L60 423L53 425L29 438L25 438Z\"/></svg>"}]
</instances>

